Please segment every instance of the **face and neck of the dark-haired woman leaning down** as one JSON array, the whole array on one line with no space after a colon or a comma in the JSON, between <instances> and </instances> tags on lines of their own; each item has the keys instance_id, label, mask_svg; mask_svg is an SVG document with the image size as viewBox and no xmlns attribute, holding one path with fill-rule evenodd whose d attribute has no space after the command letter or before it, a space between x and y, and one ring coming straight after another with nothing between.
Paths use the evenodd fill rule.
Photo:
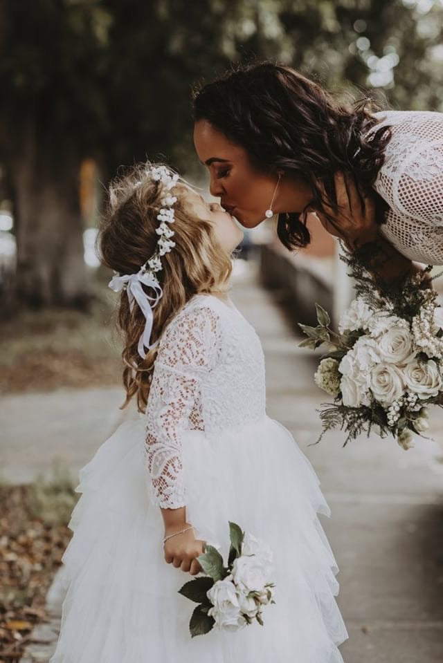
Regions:
<instances>
[{"instance_id":1,"label":"face and neck of the dark-haired woman leaning down","mask_svg":"<svg viewBox=\"0 0 443 663\"><path fill-rule=\"evenodd\" d=\"M210 192L221 206L244 227L264 221L278 182L275 174L253 167L248 153L206 120L195 123L194 144L200 161L208 167ZM312 198L310 187L300 178L282 176L273 212L302 212Z\"/></svg>"}]
</instances>

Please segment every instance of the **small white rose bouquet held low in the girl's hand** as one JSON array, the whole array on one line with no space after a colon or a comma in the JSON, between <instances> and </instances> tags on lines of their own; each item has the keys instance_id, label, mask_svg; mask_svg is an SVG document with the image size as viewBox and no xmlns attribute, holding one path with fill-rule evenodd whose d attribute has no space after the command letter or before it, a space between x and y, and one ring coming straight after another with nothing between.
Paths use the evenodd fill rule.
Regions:
<instances>
[{"instance_id":1,"label":"small white rose bouquet held low in the girl's hand","mask_svg":"<svg viewBox=\"0 0 443 663\"><path fill-rule=\"evenodd\" d=\"M229 523L230 550L224 566L219 551L206 545L197 557L207 574L183 585L179 593L199 604L190 619L190 633L204 635L213 628L238 631L255 619L263 626L264 606L275 604L275 585L270 581L272 552L253 534Z\"/></svg>"}]
</instances>

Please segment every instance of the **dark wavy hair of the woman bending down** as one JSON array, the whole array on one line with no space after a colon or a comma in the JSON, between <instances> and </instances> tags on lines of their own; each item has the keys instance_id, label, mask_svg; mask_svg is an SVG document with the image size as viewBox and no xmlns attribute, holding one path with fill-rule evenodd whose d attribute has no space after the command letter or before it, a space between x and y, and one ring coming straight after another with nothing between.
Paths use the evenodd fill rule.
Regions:
<instances>
[{"instance_id":1,"label":"dark wavy hair of the woman bending down","mask_svg":"<svg viewBox=\"0 0 443 663\"><path fill-rule=\"evenodd\" d=\"M195 121L207 120L246 149L257 169L282 170L311 187L313 199L300 214L279 214L278 236L287 248L309 244L306 212L311 206L337 227L324 207L329 202L338 211L336 171L353 174L360 194L375 196L377 222L383 223L388 205L372 185L391 134L389 127L381 127L370 140L365 138L379 122L372 115L379 106L372 100L338 101L290 66L271 62L236 66L218 80L197 86L192 97ZM329 200L323 200L317 180Z\"/></svg>"}]
</instances>

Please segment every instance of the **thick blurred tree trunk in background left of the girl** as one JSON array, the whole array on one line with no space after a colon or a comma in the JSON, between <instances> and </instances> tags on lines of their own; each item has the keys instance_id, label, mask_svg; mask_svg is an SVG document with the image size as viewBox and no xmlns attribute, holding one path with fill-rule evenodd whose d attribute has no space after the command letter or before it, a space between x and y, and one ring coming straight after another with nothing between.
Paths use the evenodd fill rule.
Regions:
<instances>
[{"instance_id":1,"label":"thick blurred tree trunk in background left of the girl","mask_svg":"<svg viewBox=\"0 0 443 663\"><path fill-rule=\"evenodd\" d=\"M17 224L17 304L87 308L79 200L80 154L71 133L24 123L10 166Z\"/></svg>"}]
</instances>

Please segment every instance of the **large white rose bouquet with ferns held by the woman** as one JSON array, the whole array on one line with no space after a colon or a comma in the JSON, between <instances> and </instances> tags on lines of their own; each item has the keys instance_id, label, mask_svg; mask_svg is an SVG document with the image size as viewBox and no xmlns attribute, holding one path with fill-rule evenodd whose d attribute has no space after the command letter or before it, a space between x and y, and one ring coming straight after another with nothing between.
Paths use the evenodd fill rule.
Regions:
<instances>
[{"instance_id":1,"label":"large white rose bouquet with ferns held by the woman","mask_svg":"<svg viewBox=\"0 0 443 663\"><path fill-rule=\"evenodd\" d=\"M329 344L314 380L334 397L322 404L323 432L347 433L345 445L373 426L404 449L413 434L428 429L428 406L443 405L443 308L431 288L427 267L389 290L347 254L356 278L356 299L341 317L339 333L316 304L318 326L301 325L308 336L300 346ZM435 277L434 277L435 278Z\"/></svg>"}]
</instances>

